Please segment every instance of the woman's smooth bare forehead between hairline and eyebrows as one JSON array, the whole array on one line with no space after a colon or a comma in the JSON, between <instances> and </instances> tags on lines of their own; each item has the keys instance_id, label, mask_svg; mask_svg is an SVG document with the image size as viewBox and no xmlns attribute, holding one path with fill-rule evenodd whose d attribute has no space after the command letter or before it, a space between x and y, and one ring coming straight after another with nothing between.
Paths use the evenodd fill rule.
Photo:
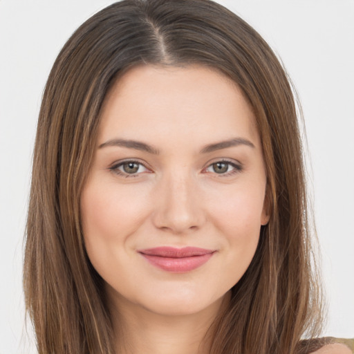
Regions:
<instances>
[{"instance_id":1,"label":"woman's smooth bare forehead between hairline and eyebrows","mask_svg":"<svg viewBox=\"0 0 354 354\"><path fill-rule=\"evenodd\" d=\"M252 107L232 80L205 66L137 66L106 97L100 140L119 133L259 139ZM172 135L171 135L172 134Z\"/></svg>"}]
</instances>

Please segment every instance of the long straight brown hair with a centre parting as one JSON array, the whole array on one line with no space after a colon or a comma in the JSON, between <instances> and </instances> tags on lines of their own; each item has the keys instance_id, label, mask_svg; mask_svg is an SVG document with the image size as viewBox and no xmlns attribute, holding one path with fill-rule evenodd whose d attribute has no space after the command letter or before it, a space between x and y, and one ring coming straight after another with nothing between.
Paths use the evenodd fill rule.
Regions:
<instances>
[{"instance_id":1,"label":"long straight brown hair with a centre parting","mask_svg":"<svg viewBox=\"0 0 354 354\"><path fill-rule=\"evenodd\" d=\"M39 354L113 354L103 280L80 225L80 194L107 92L136 65L211 66L243 90L257 118L270 221L210 328L213 354L296 353L321 323L297 109L268 44L208 0L124 0L88 19L48 77L32 170L24 289Z\"/></svg>"}]
</instances>

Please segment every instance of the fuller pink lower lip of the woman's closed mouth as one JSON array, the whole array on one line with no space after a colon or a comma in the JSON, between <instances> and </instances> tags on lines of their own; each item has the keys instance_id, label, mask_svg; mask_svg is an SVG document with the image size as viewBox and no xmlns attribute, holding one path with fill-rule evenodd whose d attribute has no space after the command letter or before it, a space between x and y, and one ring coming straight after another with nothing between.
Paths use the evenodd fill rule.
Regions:
<instances>
[{"instance_id":1,"label":"fuller pink lower lip of the woman's closed mouth","mask_svg":"<svg viewBox=\"0 0 354 354\"><path fill-rule=\"evenodd\" d=\"M214 253L208 253L192 257L171 258L141 253L141 255L152 265L155 265L162 270L166 270L167 272L179 273L190 272L191 270L201 267L201 265L209 261L213 254Z\"/></svg>"}]
</instances>

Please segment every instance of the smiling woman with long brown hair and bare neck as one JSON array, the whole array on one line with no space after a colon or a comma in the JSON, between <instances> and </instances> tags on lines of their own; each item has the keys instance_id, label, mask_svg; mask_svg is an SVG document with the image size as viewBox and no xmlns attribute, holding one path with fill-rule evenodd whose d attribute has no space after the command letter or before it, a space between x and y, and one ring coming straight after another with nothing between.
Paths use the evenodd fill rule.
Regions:
<instances>
[{"instance_id":1,"label":"smiling woman with long brown hair and bare neck","mask_svg":"<svg viewBox=\"0 0 354 354\"><path fill-rule=\"evenodd\" d=\"M39 115L24 286L39 353L345 353L319 335L294 98L211 1L115 3Z\"/></svg>"}]
</instances>

